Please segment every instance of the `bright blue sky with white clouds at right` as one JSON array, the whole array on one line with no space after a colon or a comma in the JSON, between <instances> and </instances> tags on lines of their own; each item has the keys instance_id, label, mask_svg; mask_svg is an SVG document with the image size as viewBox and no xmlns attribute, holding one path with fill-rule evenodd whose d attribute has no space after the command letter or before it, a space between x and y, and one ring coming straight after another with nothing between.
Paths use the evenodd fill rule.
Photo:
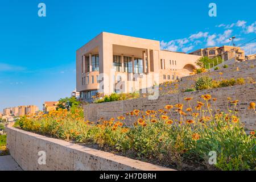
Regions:
<instances>
[{"instance_id":1,"label":"bright blue sky with white clouds at right","mask_svg":"<svg viewBox=\"0 0 256 182\"><path fill-rule=\"evenodd\" d=\"M46 17L38 4L46 4ZM208 15L209 3L217 16ZM70 96L76 50L102 31L161 41L170 51L237 45L256 37L251 1L19 1L0 3L0 111ZM255 40L243 47L256 53Z\"/></svg>"}]
</instances>

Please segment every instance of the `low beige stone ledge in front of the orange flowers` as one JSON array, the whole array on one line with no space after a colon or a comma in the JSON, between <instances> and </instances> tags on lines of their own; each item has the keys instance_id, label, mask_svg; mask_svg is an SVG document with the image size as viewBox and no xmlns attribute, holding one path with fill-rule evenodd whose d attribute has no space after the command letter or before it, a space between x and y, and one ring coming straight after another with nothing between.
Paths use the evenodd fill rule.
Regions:
<instances>
[{"instance_id":1,"label":"low beige stone ledge in front of the orange flowers","mask_svg":"<svg viewBox=\"0 0 256 182\"><path fill-rule=\"evenodd\" d=\"M144 163L109 152L79 146L64 140L44 137L14 127L7 127L6 132L7 148L23 170L174 171L173 169ZM39 151L46 152L45 165L38 163Z\"/></svg>"}]
</instances>

